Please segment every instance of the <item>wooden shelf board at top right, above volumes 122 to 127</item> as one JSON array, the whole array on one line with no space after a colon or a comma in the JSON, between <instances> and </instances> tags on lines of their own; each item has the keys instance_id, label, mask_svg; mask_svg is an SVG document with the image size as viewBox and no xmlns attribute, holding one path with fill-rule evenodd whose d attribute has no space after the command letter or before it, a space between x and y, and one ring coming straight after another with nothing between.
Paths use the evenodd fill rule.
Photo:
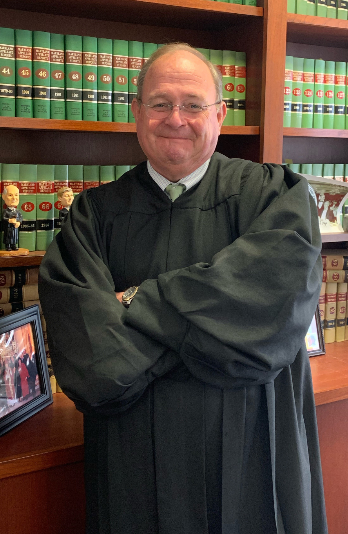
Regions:
<instances>
[{"instance_id":1,"label":"wooden shelf board at top right, above volumes 122 to 127","mask_svg":"<svg viewBox=\"0 0 348 534\"><path fill-rule=\"evenodd\" d=\"M348 48L348 21L288 13L287 41Z\"/></svg>"}]
</instances>

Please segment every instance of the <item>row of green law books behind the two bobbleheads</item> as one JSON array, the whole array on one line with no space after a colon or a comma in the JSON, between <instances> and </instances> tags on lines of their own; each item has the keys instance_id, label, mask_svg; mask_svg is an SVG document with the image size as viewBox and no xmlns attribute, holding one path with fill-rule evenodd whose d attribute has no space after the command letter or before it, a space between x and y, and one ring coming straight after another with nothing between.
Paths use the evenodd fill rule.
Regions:
<instances>
[{"instance_id":1,"label":"row of green law books behind the two bobbleheads","mask_svg":"<svg viewBox=\"0 0 348 534\"><path fill-rule=\"evenodd\" d=\"M7 185L19 189L19 206L23 222L19 227L19 247L28 250L47 250L54 235L60 231L59 210L62 208L57 192L71 187L77 195L90 187L114 182L129 165L31 165L2 163L1 191ZM4 202L2 201L2 209ZM3 232L1 232L1 248Z\"/></svg>"}]
</instances>

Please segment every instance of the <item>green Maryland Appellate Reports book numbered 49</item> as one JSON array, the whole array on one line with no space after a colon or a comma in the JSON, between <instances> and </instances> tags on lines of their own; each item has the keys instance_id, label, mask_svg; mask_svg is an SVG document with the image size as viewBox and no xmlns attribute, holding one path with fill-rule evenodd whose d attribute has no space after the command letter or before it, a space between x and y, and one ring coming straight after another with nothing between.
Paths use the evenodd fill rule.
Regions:
<instances>
[{"instance_id":1,"label":"green Maryland Appellate Reports book numbered 49","mask_svg":"<svg viewBox=\"0 0 348 534\"><path fill-rule=\"evenodd\" d=\"M97 37L82 37L82 120L98 120Z\"/></svg>"}]
</instances>

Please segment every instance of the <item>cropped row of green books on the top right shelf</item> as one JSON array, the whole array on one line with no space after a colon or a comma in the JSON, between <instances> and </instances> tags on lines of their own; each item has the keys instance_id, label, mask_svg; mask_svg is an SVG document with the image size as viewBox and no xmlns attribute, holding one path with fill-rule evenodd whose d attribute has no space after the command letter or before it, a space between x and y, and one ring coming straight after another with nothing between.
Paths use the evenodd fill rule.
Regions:
<instances>
[{"instance_id":1,"label":"cropped row of green books on the top right shelf","mask_svg":"<svg viewBox=\"0 0 348 534\"><path fill-rule=\"evenodd\" d=\"M348 19L348 0L288 0L288 13Z\"/></svg>"}]
</instances>

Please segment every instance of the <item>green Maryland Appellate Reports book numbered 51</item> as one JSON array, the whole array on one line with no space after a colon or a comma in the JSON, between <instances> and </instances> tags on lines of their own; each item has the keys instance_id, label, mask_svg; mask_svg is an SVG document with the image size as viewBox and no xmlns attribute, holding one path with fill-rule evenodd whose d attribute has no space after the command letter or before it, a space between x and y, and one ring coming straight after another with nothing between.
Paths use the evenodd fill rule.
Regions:
<instances>
[{"instance_id":1,"label":"green Maryland Appellate Reports book numbered 51","mask_svg":"<svg viewBox=\"0 0 348 534\"><path fill-rule=\"evenodd\" d=\"M128 122L128 41L113 41L113 121Z\"/></svg>"}]
</instances>

